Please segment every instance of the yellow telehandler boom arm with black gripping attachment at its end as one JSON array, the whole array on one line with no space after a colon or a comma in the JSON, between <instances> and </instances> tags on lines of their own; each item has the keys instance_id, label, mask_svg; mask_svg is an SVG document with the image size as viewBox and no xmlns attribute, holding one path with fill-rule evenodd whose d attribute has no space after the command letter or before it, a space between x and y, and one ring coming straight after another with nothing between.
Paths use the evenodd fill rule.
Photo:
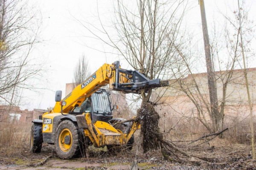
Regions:
<instances>
[{"instance_id":1,"label":"yellow telehandler boom arm with black gripping attachment at its end","mask_svg":"<svg viewBox=\"0 0 256 170\"><path fill-rule=\"evenodd\" d=\"M160 79L148 79L139 71L131 71L121 69L119 61L113 64L104 64L88 79L78 85L70 94L68 94L62 101L66 102L63 106L63 112L68 113L97 91L102 86L108 85L115 91L123 93L139 94L142 91L147 92L150 88L157 88L167 86L168 83L162 85ZM61 105L56 102L53 113L61 112Z\"/></svg>"}]
</instances>

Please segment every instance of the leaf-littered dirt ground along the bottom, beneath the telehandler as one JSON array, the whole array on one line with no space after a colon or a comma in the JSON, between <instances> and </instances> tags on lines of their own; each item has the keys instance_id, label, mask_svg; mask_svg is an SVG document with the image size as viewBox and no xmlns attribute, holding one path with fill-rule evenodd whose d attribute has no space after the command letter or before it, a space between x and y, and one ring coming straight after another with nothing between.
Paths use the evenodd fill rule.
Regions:
<instances>
[{"instance_id":1,"label":"leaf-littered dirt ground along the bottom, beneath the telehandler","mask_svg":"<svg viewBox=\"0 0 256 170\"><path fill-rule=\"evenodd\" d=\"M256 170L256 160L251 159L247 149L244 147L215 158L210 156L212 151L209 151L210 157L204 161L193 158L167 161L157 150L140 153L137 163L140 170ZM29 149L24 148L20 154L1 156L0 170L129 170L135 153L135 150L131 150L113 154L100 149L90 151L89 158L62 160L56 156L54 146L44 144L41 153L29 153Z\"/></svg>"}]
</instances>

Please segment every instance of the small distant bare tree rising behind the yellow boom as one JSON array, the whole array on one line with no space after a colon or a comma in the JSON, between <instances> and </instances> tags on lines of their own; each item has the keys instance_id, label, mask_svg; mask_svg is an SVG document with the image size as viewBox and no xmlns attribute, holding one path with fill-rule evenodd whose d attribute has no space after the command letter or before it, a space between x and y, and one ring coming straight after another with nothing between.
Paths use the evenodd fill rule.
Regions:
<instances>
[{"instance_id":1,"label":"small distant bare tree rising behind the yellow boom","mask_svg":"<svg viewBox=\"0 0 256 170\"><path fill-rule=\"evenodd\" d=\"M80 85L85 79L87 79L91 75L90 68L88 66L88 59L83 54L80 58L78 63L76 64L76 68L74 71L74 85ZM75 88L74 87L74 88Z\"/></svg>"}]
</instances>

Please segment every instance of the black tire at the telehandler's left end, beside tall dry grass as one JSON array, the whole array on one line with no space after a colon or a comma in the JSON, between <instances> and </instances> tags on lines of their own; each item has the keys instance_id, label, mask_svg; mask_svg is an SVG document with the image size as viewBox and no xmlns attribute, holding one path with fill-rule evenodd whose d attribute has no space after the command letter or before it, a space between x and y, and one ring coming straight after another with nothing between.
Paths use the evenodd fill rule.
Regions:
<instances>
[{"instance_id":1,"label":"black tire at the telehandler's left end, beside tall dry grass","mask_svg":"<svg viewBox=\"0 0 256 170\"><path fill-rule=\"evenodd\" d=\"M40 153L43 143L42 124L33 123L30 133L30 152Z\"/></svg>"}]
</instances>

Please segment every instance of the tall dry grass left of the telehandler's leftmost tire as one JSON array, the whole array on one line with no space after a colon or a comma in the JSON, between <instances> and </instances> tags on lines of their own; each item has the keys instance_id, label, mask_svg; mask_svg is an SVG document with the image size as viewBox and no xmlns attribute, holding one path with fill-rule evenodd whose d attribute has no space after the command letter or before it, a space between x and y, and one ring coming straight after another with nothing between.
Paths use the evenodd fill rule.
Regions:
<instances>
[{"instance_id":1,"label":"tall dry grass left of the telehandler's leftmost tire","mask_svg":"<svg viewBox=\"0 0 256 170\"><path fill-rule=\"evenodd\" d=\"M29 151L31 123L0 123L0 156L19 154Z\"/></svg>"}]
</instances>

